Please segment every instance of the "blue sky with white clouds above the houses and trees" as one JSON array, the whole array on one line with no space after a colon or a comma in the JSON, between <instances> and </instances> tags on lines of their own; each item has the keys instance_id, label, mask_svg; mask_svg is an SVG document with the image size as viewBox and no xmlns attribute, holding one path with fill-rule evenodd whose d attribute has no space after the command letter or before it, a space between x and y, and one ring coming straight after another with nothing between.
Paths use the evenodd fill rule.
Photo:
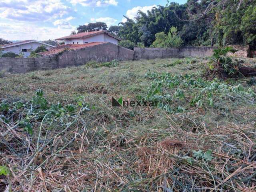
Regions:
<instances>
[{"instance_id":1,"label":"blue sky with white clouds above the houses and trees","mask_svg":"<svg viewBox=\"0 0 256 192\"><path fill-rule=\"evenodd\" d=\"M186 0L173 0L184 4ZM105 22L108 27L133 19L166 0L0 0L0 38L53 40L79 25Z\"/></svg>"}]
</instances>

